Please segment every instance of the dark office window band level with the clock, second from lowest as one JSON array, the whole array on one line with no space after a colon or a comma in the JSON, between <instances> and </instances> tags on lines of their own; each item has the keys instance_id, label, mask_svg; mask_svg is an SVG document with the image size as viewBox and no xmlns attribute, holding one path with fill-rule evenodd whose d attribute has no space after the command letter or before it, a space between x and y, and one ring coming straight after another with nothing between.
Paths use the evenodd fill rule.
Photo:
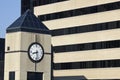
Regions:
<instances>
[{"instance_id":1,"label":"dark office window band level with the clock, second from lowest","mask_svg":"<svg viewBox=\"0 0 120 80\"><path fill-rule=\"evenodd\" d=\"M120 47L120 40L54 46L53 50L55 53L61 53L61 52L71 52L71 51L109 49L109 48L118 48L118 47Z\"/></svg>"}]
</instances>

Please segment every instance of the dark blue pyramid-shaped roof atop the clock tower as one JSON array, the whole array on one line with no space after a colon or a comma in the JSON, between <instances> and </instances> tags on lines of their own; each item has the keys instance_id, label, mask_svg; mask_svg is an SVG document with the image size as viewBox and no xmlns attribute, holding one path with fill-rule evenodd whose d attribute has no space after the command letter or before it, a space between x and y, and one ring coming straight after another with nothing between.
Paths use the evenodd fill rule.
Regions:
<instances>
[{"instance_id":1,"label":"dark blue pyramid-shaped roof atop the clock tower","mask_svg":"<svg viewBox=\"0 0 120 80\"><path fill-rule=\"evenodd\" d=\"M7 28L7 33L18 31L50 34L49 29L30 10Z\"/></svg>"}]
</instances>

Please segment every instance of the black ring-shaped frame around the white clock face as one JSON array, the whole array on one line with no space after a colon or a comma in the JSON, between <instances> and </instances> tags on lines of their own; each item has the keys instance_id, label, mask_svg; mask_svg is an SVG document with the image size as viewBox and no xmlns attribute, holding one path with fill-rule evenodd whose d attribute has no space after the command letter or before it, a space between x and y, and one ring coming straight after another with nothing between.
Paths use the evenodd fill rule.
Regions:
<instances>
[{"instance_id":1,"label":"black ring-shaped frame around the white clock face","mask_svg":"<svg viewBox=\"0 0 120 80\"><path fill-rule=\"evenodd\" d=\"M33 60L31 57L30 57L30 48L31 48L31 46L32 45L34 45L34 44L38 44L41 48L42 48L42 50L43 50L43 55L42 55L42 57L41 57L41 59L39 59L39 60ZM30 46L28 47L28 57L29 57L29 59L33 62L33 63L38 63L38 62L40 62L42 59L43 59L43 57L44 57L44 48L43 48L43 46L40 44L40 43L38 43L38 42L33 42L33 43L31 43L30 44Z\"/></svg>"}]
</instances>

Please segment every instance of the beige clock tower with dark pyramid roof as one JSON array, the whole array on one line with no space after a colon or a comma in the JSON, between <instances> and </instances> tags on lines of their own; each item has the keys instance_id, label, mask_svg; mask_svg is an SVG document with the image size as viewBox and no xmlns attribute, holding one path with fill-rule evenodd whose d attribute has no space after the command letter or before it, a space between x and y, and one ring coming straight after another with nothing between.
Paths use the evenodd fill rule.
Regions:
<instances>
[{"instance_id":1,"label":"beige clock tower with dark pyramid roof","mask_svg":"<svg viewBox=\"0 0 120 80\"><path fill-rule=\"evenodd\" d=\"M4 80L51 80L49 29L27 10L7 28Z\"/></svg>"}]
</instances>

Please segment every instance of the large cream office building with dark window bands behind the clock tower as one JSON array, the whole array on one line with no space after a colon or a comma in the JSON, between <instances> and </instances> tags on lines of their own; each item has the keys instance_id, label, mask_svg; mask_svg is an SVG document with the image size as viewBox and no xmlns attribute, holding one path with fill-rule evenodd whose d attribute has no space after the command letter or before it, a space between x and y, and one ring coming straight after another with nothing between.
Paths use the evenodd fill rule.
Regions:
<instances>
[{"instance_id":1,"label":"large cream office building with dark window bands behind the clock tower","mask_svg":"<svg viewBox=\"0 0 120 80\"><path fill-rule=\"evenodd\" d=\"M55 80L120 79L120 0L22 0L51 30Z\"/></svg>"}]
</instances>

